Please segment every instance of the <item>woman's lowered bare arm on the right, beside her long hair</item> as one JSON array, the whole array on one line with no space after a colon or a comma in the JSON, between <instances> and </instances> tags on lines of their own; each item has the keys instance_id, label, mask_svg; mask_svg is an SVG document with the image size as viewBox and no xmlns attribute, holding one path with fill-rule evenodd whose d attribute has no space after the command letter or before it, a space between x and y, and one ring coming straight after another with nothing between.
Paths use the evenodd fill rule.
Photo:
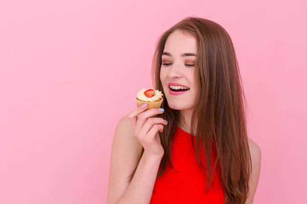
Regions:
<instances>
[{"instance_id":1,"label":"woman's lowered bare arm on the right, beside her long hair","mask_svg":"<svg viewBox=\"0 0 307 204\"><path fill-rule=\"evenodd\" d=\"M252 174L251 174L250 181L249 181L250 192L246 200L246 204L253 203L256 189L258 186L258 181L259 181L259 176L260 176L260 163L261 163L261 151L260 151L259 146L252 140L249 140L249 146L250 146L250 153L251 153L251 158L252 158Z\"/></svg>"}]
</instances>

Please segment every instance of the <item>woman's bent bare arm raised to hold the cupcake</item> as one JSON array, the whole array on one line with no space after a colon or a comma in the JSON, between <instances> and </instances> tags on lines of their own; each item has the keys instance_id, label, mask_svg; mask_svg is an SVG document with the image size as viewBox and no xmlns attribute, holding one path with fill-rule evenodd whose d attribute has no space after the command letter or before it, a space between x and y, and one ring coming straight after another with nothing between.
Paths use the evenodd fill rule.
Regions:
<instances>
[{"instance_id":1,"label":"woman's bent bare arm raised to hold the cupcake","mask_svg":"<svg viewBox=\"0 0 307 204\"><path fill-rule=\"evenodd\" d=\"M153 112L157 112L157 110L149 110L146 112L150 111L151 115ZM146 120L148 120L147 117L144 121ZM144 204L150 202L163 154L156 157L148 153L152 151L149 151L150 149L144 144L142 138L136 137L138 135L136 133L136 129L138 129L136 126L140 127L140 125L143 125L141 129L138 129L138 132L141 132L141 136L150 138L150 133L156 135L158 131L163 131L163 125L160 124L162 127L155 125L156 123L161 123L161 120L162 118L160 118L160 121L159 118L149 119L146 123L134 125L133 123L131 124L131 118L126 116L119 121L111 152L107 204ZM143 134L144 132L147 132L147 134ZM155 138L155 135L153 135L153 138ZM145 151L138 165L138 156L142 147L141 143L147 148L144 147ZM148 140L147 143L150 143L150 141ZM133 180L129 182L129 176L137 165L138 167Z\"/></svg>"}]
</instances>

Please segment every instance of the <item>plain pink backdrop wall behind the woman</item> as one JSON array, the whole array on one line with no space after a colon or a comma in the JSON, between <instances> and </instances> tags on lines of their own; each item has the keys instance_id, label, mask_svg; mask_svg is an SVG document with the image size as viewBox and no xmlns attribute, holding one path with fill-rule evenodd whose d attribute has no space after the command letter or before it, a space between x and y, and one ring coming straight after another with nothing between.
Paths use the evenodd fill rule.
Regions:
<instances>
[{"instance_id":1,"label":"plain pink backdrop wall behind the woman","mask_svg":"<svg viewBox=\"0 0 307 204\"><path fill-rule=\"evenodd\" d=\"M235 44L250 137L262 150L254 203L307 194L307 3L0 2L0 203L105 203L119 118L151 87L158 36L194 15Z\"/></svg>"}]
</instances>

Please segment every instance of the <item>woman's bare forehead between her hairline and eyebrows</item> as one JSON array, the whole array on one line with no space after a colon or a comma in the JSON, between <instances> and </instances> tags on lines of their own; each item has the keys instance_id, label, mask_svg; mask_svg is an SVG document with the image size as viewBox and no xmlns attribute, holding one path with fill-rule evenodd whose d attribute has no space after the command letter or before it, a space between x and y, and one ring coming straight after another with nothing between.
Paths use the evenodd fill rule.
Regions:
<instances>
[{"instance_id":1,"label":"woman's bare forehead between her hairline and eyebrows","mask_svg":"<svg viewBox=\"0 0 307 204\"><path fill-rule=\"evenodd\" d=\"M187 32L174 31L170 34L165 42L164 52L175 54L195 53L197 44L194 36Z\"/></svg>"}]
</instances>

